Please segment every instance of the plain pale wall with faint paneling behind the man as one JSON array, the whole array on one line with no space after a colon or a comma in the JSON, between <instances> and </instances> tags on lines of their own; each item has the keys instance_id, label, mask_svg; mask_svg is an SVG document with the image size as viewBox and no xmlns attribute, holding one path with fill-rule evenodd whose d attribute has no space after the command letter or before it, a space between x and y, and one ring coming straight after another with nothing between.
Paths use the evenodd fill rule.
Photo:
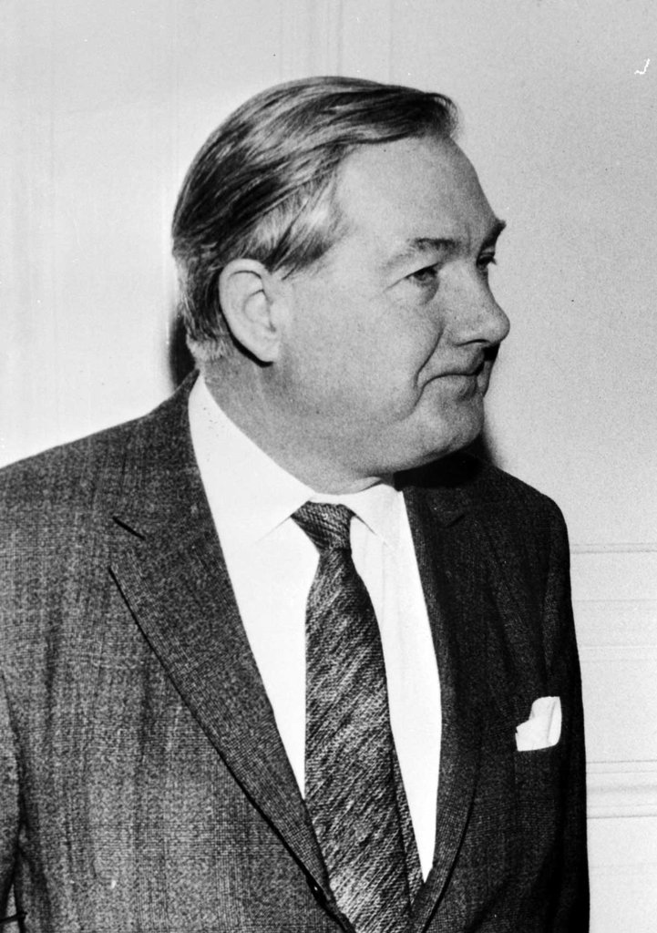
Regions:
<instances>
[{"instance_id":1,"label":"plain pale wall with faint paneling behind the man","mask_svg":"<svg viewBox=\"0 0 657 933\"><path fill-rule=\"evenodd\" d=\"M0 16L3 462L170 391L176 189L245 96L340 72L461 105L463 145L509 221L490 442L571 529L593 931L653 930L652 0L6 0Z\"/></svg>"}]
</instances>

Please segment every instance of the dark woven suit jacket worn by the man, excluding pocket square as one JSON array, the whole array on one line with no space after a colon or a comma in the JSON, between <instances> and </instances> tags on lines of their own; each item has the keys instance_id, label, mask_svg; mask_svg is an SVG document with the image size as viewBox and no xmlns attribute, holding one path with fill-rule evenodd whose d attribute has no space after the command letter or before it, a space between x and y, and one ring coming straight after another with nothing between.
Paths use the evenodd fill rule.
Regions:
<instances>
[{"instance_id":1,"label":"dark woven suit jacket worn by the man, excluding pocket square","mask_svg":"<svg viewBox=\"0 0 657 933\"><path fill-rule=\"evenodd\" d=\"M0 910L24 919L3 930L349 928L246 642L188 394L4 472ZM404 481L443 707L413 928L583 931L564 524L466 456ZM543 695L561 697L560 742L519 753Z\"/></svg>"}]
</instances>

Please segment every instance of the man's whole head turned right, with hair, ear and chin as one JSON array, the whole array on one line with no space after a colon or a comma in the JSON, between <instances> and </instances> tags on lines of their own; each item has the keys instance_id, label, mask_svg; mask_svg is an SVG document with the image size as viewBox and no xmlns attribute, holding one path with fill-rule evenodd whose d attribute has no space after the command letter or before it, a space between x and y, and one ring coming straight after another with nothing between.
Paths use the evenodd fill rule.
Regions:
<instances>
[{"instance_id":1,"label":"man's whole head turned right, with hair, ear and chin","mask_svg":"<svg viewBox=\"0 0 657 933\"><path fill-rule=\"evenodd\" d=\"M509 328L488 283L503 225L453 131L437 95L314 79L245 104L190 170L175 216L190 344L232 420L318 491L482 428Z\"/></svg>"}]
</instances>

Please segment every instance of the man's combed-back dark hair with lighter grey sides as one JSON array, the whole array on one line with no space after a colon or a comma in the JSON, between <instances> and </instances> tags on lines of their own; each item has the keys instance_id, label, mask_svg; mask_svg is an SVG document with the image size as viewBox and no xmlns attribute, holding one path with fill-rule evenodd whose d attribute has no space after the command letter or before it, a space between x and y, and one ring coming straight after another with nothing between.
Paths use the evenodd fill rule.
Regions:
<instances>
[{"instance_id":1,"label":"man's combed-back dark hair with lighter grey sides","mask_svg":"<svg viewBox=\"0 0 657 933\"><path fill-rule=\"evenodd\" d=\"M298 272L322 258L345 224L334 197L356 146L453 138L457 113L441 94L348 77L312 77L262 91L208 138L175 206L179 310L199 361L232 346L218 297L236 258Z\"/></svg>"}]
</instances>

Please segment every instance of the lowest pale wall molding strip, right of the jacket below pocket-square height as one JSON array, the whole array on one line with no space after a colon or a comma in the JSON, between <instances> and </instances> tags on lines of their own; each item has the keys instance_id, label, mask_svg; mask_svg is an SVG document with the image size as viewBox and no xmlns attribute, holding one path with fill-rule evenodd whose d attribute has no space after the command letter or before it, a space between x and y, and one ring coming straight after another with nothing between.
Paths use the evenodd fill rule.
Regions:
<instances>
[{"instance_id":1,"label":"lowest pale wall molding strip, right of the jacket below pocket-square height","mask_svg":"<svg viewBox=\"0 0 657 933\"><path fill-rule=\"evenodd\" d=\"M657 760L589 761L590 819L657 816Z\"/></svg>"}]
</instances>

